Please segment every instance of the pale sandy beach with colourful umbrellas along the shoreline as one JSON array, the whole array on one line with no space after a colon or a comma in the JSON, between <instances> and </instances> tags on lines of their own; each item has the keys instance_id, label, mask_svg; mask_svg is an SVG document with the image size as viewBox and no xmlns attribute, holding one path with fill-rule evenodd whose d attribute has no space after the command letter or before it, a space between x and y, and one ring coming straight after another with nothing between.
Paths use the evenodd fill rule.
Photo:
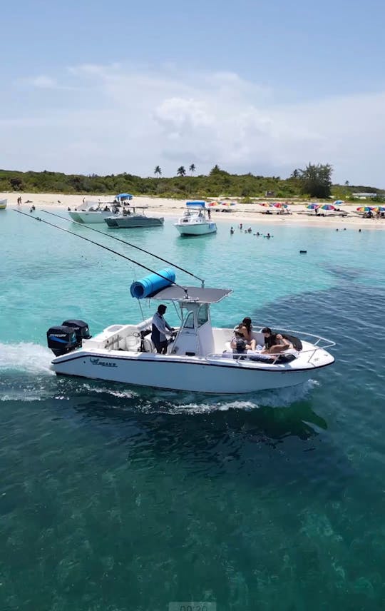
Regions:
<instances>
[{"instance_id":1,"label":"pale sandy beach with colourful umbrellas along the shoreline","mask_svg":"<svg viewBox=\"0 0 385 611\"><path fill-rule=\"evenodd\" d=\"M18 206L17 199L21 196L22 204ZM44 206L55 206L57 208L81 208L83 206L83 197L86 201L101 201L102 203L112 201L113 196L82 196L82 195L65 195L63 193L0 193L0 199L8 200L8 208L19 208L21 211L29 211L30 206L34 203L36 211ZM236 201L236 199L234 200ZM135 196L132 204L135 206L148 206L148 211L154 212L155 215L178 217L185 210L185 199L167 199L158 197ZM371 205L373 203L362 202L362 206ZM339 206L341 213L324 212L324 216L316 216L314 211L307 209L307 202L290 202L290 213L277 213L276 208L270 208L271 214L266 214L265 208L261 203L236 203L235 206L218 206L220 211L216 211L215 207L210 208L212 220L215 222L234 221L234 223L245 223L247 226L255 226L262 223L284 223L285 225L301 224L304 226L333 226L344 228L354 226L356 228L366 229L385 229L385 218L363 218L361 213L356 212L359 203L344 203ZM347 213L347 216L343 216ZM246 226L245 226L246 228Z\"/></svg>"}]
</instances>

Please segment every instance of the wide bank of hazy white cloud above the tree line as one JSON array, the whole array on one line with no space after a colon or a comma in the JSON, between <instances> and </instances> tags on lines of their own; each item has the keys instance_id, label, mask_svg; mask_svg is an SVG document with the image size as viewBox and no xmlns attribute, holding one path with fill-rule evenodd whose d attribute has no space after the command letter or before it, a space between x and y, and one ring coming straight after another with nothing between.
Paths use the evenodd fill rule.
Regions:
<instances>
[{"instance_id":1,"label":"wide bank of hazy white cloud above the tree line","mask_svg":"<svg viewBox=\"0 0 385 611\"><path fill-rule=\"evenodd\" d=\"M27 82L37 91L28 113L15 116L9 97L0 120L13 167L149 175L159 164L167 175L219 163L287 176L319 161L334 165L337 180L382 185L385 93L289 103L231 72L174 65L81 64ZM44 111L42 89L53 90Z\"/></svg>"}]
</instances>

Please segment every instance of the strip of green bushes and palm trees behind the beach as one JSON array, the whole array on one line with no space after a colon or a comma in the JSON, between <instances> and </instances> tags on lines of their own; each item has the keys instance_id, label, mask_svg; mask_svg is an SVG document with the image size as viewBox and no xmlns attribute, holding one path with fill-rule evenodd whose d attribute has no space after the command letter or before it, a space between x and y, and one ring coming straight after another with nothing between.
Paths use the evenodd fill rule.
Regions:
<instances>
[{"instance_id":1,"label":"strip of green bushes and palm trees behind the beach","mask_svg":"<svg viewBox=\"0 0 385 611\"><path fill-rule=\"evenodd\" d=\"M352 193L379 193L376 201L385 197L385 191L369 186L352 186L349 181L344 185L332 185L329 165L314 166L309 163L304 170L294 170L289 178L279 176L255 176L255 174L230 174L219 166L214 166L208 176L193 176L195 165L189 166L190 176L184 166L180 166L178 176L162 176L160 166L155 166L155 176L142 178L133 174L111 174L108 176L83 176L60 172L19 172L0 170L0 191L19 191L20 193L83 193L109 194L133 193L174 198L216 198L230 196L242 198L245 203L251 198L265 197L267 192L274 198L325 198L331 192L336 199L351 200ZM317 191L316 191L317 189Z\"/></svg>"}]
</instances>

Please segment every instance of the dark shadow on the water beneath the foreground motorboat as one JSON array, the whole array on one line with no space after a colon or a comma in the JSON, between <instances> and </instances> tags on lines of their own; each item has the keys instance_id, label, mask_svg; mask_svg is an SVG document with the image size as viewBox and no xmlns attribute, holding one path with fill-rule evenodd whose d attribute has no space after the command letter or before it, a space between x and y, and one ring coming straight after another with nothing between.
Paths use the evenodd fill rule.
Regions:
<instances>
[{"instance_id":1,"label":"dark shadow on the water beneath the foreground motorboat","mask_svg":"<svg viewBox=\"0 0 385 611\"><path fill-rule=\"evenodd\" d=\"M166 461L183 465L186 478L240 480L258 489L290 485L302 490L307 482L328 498L341 498L354 475L342 450L324 434L327 421L309 400L247 408L242 397L202 410L196 398L189 402L191 396L175 405L168 398L150 400L135 393L111 396L98 386L90 396L88 381L86 387L78 388L70 405L66 402L68 418L75 413L88 430L96 426L107 447L127 453L130 469Z\"/></svg>"}]
</instances>

